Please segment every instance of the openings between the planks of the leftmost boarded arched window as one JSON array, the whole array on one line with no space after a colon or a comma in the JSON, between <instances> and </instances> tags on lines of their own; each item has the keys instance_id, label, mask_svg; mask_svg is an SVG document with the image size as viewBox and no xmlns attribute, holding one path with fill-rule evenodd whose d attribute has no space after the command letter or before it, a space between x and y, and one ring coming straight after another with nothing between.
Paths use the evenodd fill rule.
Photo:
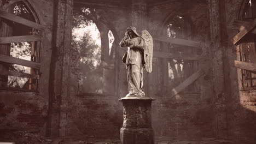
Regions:
<instances>
[{"instance_id":1,"label":"openings between the planks of the leftmost boarded arched window","mask_svg":"<svg viewBox=\"0 0 256 144\"><path fill-rule=\"evenodd\" d=\"M36 18L33 16L34 11L28 8L23 1L11 4L8 7L7 12L29 21L36 22ZM40 35L40 31L25 25L21 25L17 22L3 20L1 23L0 34L1 37L24 36L32 34ZM40 49L40 41L1 44L0 47L2 49L0 54L2 55L25 59L27 61L39 62L38 54ZM16 59L16 61L17 63L20 63L18 59ZM0 78L1 89L16 88L13 90L32 92L38 91L38 79L31 78L33 77L31 75L39 74L38 69L25 67L24 65L19 64L9 64L6 62L0 63L0 67L2 68Z\"/></svg>"}]
</instances>

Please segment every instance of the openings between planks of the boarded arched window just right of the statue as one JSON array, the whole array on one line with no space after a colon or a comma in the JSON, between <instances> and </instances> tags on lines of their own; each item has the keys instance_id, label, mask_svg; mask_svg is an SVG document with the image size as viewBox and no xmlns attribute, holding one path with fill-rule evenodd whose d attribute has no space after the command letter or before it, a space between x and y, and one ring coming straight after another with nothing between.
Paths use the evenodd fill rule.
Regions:
<instances>
[{"instance_id":1,"label":"openings between planks of the boarded arched window just right of the statue","mask_svg":"<svg viewBox=\"0 0 256 144\"><path fill-rule=\"evenodd\" d=\"M156 31L156 35L161 35L170 38L179 39L190 39L193 33L193 23L188 16L183 13L178 13L177 11L172 11L168 14L166 18L162 21L161 26ZM168 34L167 34L168 33ZM155 41L155 46L158 51L172 53L173 55L189 55L193 53L196 55L193 48L184 48L182 46L170 45L162 41ZM172 48L169 49L169 48ZM182 53L182 54L181 54ZM159 69L159 73L162 75L161 83L164 83L163 88L160 91L167 91L168 87L177 86L183 80L187 79L193 73L195 73L198 64L196 61L190 61L188 59L174 58L174 59L159 59L162 67ZM184 93L199 92L199 82L195 85L190 85L185 89ZM168 86L166 89L164 86ZM159 91L159 90L158 90Z\"/></svg>"}]
</instances>

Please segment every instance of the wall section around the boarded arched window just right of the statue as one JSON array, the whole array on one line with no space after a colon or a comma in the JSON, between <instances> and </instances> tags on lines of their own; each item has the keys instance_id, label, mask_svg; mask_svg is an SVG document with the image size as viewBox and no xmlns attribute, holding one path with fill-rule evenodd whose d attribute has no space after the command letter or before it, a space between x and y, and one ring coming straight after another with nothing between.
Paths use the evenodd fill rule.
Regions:
<instances>
[{"instance_id":1,"label":"wall section around the boarded arched window just right of the statue","mask_svg":"<svg viewBox=\"0 0 256 144\"><path fill-rule=\"evenodd\" d=\"M158 5L150 11L149 29L154 34L160 34L162 25L168 17L181 15L189 18L191 22L191 39L202 44L203 59L199 61L199 68L205 69L210 65L210 25L206 2L199 3L173 3L170 5ZM160 16L161 15L161 16ZM154 49L161 51L155 43ZM153 69L159 70L159 59L154 59ZM198 69L199 69L198 68ZM150 86L153 101L153 127L156 136L167 136L166 139L202 139L202 137L214 137L214 103L211 85L211 73L206 70L206 75L201 76L199 94L181 94L175 97L156 94L156 87L160 85L156 80L159 73L154 75ZM167 88L171 89L171 88Z\"/></svg>"}]
</instances>

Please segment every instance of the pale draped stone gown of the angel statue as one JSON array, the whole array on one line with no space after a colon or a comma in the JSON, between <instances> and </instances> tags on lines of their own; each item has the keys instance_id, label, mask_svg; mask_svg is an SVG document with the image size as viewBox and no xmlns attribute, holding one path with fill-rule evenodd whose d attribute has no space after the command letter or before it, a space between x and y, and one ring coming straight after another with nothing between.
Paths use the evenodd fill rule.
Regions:
<instances>
[{"instance_id":1,"label":"pale draped stone gown of the angel statue","mask_svg":"<svg viewBox=\"0 0 256 144\"><path fill-rule=\"evenodd\" d=\"M129 46L134 45L132 49ZM129 88L129 95L141 95L144 96L143 92L143 49L144 40L141 37L132 39L123 39L120 42L121 47L128 46L127 57L126 57L126 70L127 70L127 81Z\"/></svg>"}]
</instances>

